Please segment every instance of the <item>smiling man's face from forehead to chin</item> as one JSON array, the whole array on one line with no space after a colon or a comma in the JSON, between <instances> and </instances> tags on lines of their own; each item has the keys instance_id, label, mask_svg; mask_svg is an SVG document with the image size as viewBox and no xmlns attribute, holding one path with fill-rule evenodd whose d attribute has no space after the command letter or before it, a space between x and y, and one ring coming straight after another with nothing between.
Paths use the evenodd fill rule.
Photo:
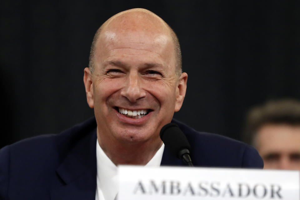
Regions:
<instances>
[{"instance_id":1,"label":"smiling man's face from forehead to chin","mask_svg":"<svg viewBox=\"0 0 300 200\"><path fill-rule=\"evenodd\" d=\"M123 143L159 139L185 94L187 75L176 76L175 60L173 41L164 33L101 33L88 98L100 137Z\"/></svg>"}]
</instances>

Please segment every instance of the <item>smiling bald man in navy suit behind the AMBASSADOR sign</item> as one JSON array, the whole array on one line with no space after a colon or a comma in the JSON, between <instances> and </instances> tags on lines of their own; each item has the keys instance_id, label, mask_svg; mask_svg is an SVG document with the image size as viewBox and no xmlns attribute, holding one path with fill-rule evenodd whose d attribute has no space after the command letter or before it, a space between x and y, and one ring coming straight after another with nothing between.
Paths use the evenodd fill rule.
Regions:
<instances>
[{"instance_id":1,"label":"smiling bald man in navy suit behind the AMBASSADOR sign","mask_svg":"<svg viewBox=\"0 0 300 200\"><path fill-rule=\"evenodd\" d=\"M119 164L186 165L159 138L171 121L191 143L195 166L262 168L254 148L172 119L186 83L178 38L166 22L145 9L111 17L96 32L84 69L95 118L2 148L0 199L113 200Z\"/></svg>"}]
</instances>

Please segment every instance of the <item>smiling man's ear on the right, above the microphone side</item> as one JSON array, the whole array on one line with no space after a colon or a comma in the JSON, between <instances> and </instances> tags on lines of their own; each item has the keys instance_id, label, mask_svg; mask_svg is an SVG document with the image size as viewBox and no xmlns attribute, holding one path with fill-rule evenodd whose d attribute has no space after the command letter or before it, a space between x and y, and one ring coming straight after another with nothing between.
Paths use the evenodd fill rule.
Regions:
<instances>
[{"instance_id":1,"label":"smiling man's ear on the right, above the microphone side","mask_svg":"<svg viewBox=\"0 0 300 200\"><path fill-rule=\"evenodd\" d=\"M178 79L176 88L175 112L178 112L182 106L185 92L187 91L187 73L182 73Z\"/></svg>"}]
</instances>

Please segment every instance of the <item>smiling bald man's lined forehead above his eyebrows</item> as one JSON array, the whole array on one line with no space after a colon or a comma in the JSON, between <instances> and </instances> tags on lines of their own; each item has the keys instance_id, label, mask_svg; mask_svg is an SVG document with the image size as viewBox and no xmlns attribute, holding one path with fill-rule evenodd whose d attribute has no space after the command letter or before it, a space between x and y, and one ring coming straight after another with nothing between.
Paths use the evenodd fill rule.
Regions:
<instances>
[{"instance_id":1,"label":"smiling bald man's lined forehead above his eyebrows","mask_svg":"<svg viewBox=\"0 0 300 200\"><path fill-rule=\"evenodd\" d=\"M102 36L98 39L96 57L98 61L109 61L117 59L124 59L128 55L135 55L135 61L149 63L160 63L160 65L168 66L169 62L175 62L175 59L169 58L173 54L170 54L170 51L173 51L173 42L166 35L157 35L150 37L143 33L136 33L138 36L134 36L133 33L124 33L116 34L115 32L103 32ZM138 58L142 59L139 60ZM154 60L155 61L154 61ZM133 62L133 60L131 60ZM166 62L166 63L165 63ZM175 63L171 64L171 66Z\"/></svg>"}]
</instances>

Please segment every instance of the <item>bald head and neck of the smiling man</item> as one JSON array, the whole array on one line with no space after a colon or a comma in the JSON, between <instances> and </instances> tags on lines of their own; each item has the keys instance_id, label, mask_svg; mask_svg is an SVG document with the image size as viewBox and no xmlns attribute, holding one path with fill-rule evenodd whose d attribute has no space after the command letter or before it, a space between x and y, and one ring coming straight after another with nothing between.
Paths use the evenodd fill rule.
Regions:
<instances>
[{"instance_id":1,"label":"bald head and neck of the smiling man","mask_svg":"<svg viewBox=\"0 0 300 200\"><path fill-rule=\"evenodd\" d=\"M170 27L144 9L119 13L98 30L84 84L98 142L114 164L145 165L162 146L159 131L186 91L176 43Z\"/></svg>"}]
</instances>

